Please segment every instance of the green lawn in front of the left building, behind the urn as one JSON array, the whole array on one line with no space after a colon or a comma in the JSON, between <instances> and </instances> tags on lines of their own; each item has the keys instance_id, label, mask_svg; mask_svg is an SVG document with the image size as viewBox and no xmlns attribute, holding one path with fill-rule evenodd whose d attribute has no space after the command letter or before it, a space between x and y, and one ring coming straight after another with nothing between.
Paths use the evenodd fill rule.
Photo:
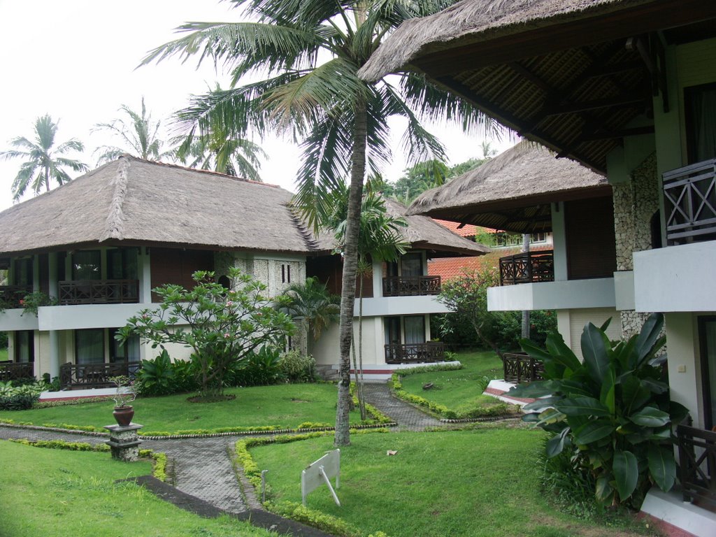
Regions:
<instances>
[{"instance_id":1,"label":"green lawn in front of the left building, behind the urn","mask_svg":"<svg viewBox=\"0 0 716 537\"><path fill-rule=\"evenodd\" d=\"M180 430L214 430L221 427L297 427L303 422L333 424L336 420L335 384L279 384L229 388L232 401L193 403L188 395L137 399L134 420L144 434ZM0 420L32 422L34 425L69 424L102 427L113 422L114 402L83 403L32 410L0 411ZM358 423L357 412L352 420Z\"/></svg>"}]
</instances>

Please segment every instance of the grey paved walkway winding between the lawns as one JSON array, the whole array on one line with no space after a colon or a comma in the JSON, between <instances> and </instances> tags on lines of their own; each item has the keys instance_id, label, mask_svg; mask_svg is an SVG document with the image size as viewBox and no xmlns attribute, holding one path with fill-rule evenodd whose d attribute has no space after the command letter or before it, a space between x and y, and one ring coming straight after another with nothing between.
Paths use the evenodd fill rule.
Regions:
<instances>
[{"instance_id":1,"label":"grey paved walkway winding between the lawns","mask_svg":"<svg viewBox=\"0 0 716 537\"><path fill-rule=\"evenodd\" d=\"M398 430L424 430L440 427L439 420L390 395L387 384L366 384L366 400L397 422ZM0 439L64 440L101 444L107 437L34 430L0 425ZM174 485L188 495L200 498L228 513L246 514L241 491L233 470L233 447L241 435L203 438L143 440L142 448L166 453L173 463Z\"/></svg>"}]
</instances>

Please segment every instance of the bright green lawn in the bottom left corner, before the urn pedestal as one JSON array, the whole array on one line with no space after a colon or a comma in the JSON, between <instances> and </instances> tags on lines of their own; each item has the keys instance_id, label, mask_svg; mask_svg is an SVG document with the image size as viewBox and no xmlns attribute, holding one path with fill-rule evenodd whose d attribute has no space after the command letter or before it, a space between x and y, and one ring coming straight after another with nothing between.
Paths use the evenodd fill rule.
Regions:
<instances>
[{"instance_id":1,"label":"bright green lawn in the bottom left corner, before the urn pedestal","mask_svg":"<svg viewBox=\"0 0 716 537\"><path fill-rule=\"evenodd\" d=\"M114 483L150 471L150 463L121 463L107 453L0 440L0 537L273 535L230 518L200 518L133 483Z\"/></svg>"}]
</instances>

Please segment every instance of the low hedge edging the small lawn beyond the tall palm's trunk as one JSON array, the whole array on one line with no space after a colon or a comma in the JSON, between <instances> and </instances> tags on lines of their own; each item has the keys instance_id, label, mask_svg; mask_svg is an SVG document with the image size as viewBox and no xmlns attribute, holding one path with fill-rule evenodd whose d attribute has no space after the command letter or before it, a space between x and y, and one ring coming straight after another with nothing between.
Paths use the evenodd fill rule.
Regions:
<instances>
[{"instance_id":1,"label":"low hedge edging the small lawn beyond the tall palm's trunk","mask_svg":"<svg viewBox=\"0 0 716 537\"><path fill-rule=\"evenodd\" d=\"M401 377L407 377L411 374L435 372L435 371L454 371L455 369L463 369L463 365L431 365L425 367L413 367L411 369L401 369L400 372L395 372L391 375L388 385L392 394L398 399L420 407L421 410L425 410L428 414L437 417L441 422L445 423L463 423L471 421L481 420L495 420L500 417L513 417L516 414L510 412L509 406L506 403L495 405L489 409L475 407L463 411L451 410L445 405L420 397L410 392L403 390Z\"/></svg>"}]
</instances>

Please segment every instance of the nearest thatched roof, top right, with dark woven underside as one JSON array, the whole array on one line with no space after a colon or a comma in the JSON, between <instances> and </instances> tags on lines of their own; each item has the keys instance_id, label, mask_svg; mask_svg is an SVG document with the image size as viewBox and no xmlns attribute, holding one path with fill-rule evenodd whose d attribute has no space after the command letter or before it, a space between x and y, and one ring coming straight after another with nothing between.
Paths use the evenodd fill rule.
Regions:
<instances>
[{"instance_id":1,"label":"nearest thatched roof, top right, with dark woven underside","mask_svg":"<svg viewBox=\"0 0 716 537\"><path fill-rule=\"evenodd\" d=\"M716 2L704 0L463 0L405 21L360 74L423 72L523 137L604 172L623 137L654 132L649 120L632 123L653 117L652 95L664 110L677 106L661 39L714 37L715 22Z\"/></svg>"}]
</instances>

